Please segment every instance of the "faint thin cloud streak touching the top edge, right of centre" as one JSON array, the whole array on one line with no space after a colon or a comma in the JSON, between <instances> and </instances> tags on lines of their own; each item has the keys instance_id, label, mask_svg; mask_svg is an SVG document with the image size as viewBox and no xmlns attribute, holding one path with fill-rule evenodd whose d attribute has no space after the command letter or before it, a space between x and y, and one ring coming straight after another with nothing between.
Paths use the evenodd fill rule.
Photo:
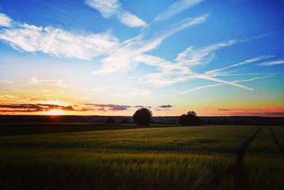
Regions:
<instances>
[{"instance_id":1,"label":"faint thin cloud streak touching the top edge, right of centre","mask_svg":"<svg viewBox=\"0 0 284 190\"><path fill-rule=\"evenodd\" d=\"M165 19L169 19L176 14L189 9L192 6L200 4L202 0L180 0L173 3L167 10L165 10L162 14L159 14L155 17L155 21L163 21Z\"/></svg>"}]
</instances>

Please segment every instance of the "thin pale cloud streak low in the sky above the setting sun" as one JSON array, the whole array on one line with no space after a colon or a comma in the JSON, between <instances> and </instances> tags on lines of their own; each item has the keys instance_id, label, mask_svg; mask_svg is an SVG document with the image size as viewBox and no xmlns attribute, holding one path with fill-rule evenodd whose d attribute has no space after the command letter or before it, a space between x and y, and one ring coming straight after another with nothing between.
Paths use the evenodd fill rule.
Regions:
<instances>
[{"instance_id":1,"label":"thin pale cloud streak low in the sky above the setting sun","mask_svg":"<svg viewBox=\"0 0 284 190\"><path fill-rule=\"evenodd\" d=\"M98 89L93 89L93 88L81 88L81 87L77 87L74 85L66 85L65 83L63 83L63 80L38 80L38 78L31 78L31 80L28 82L29 85L51 85L51 86L56 86L59 88L73 88L73 89L77 89L77 90L89 90L89 91L94 91L97 92L99 91Z\"/></svg>"}]
</instances>

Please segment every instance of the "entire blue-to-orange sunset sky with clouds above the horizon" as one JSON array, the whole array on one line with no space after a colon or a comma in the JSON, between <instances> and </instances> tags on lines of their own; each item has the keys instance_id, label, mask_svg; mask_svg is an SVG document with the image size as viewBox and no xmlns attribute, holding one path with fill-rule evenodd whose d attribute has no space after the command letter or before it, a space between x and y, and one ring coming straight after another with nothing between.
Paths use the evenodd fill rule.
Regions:
<instances>
[{"instance_id":1,"label":"entire blue-to-orange sunset sky with clouds above the horizon","mask_svg":"<svg viewBox=\"0 0 284 190\"><path fill-rule=\"evenodd\" d=\"M0 115L284 116L283 9L0 0Z\"/></svg>"}]
</instances>

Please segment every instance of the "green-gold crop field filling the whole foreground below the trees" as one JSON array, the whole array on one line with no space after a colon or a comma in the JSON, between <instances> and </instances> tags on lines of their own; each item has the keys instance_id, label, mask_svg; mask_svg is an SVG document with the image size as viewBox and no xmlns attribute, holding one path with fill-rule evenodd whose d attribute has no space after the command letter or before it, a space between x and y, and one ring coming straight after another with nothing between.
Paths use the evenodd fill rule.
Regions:
<instances>
[{"instance_id":1,"label":"green-gold crop field filling the whole foreground below the trees","mask_svg":"<svg viewBox=\"0 0 284 190\"><path fill-rule=\"evenodd\" d=\"M124 128L11 130L1 189L284 189L283 127Z\"/></svg>"}]
</instances>

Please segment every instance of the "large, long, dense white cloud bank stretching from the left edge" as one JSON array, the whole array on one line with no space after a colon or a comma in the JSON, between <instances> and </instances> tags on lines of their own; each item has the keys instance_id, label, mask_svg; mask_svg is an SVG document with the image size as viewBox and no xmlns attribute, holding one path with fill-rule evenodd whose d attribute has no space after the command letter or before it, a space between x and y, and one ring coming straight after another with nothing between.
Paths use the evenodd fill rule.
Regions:
<instances>
[{"instance_id":1,"label":"large, long, dense white cloud bank stretching from the left edge","mask_svg":"<svg viewBox=\"0 0 284 190\"><path fill-rule=\"evenodd\" d=\"M110 33L75 35L60 28L38 27L26 23L0 31L0 39L19 51L41 51L59 58L90 60L113 51L119 40Z\"/></svg>"}]
</instances>

